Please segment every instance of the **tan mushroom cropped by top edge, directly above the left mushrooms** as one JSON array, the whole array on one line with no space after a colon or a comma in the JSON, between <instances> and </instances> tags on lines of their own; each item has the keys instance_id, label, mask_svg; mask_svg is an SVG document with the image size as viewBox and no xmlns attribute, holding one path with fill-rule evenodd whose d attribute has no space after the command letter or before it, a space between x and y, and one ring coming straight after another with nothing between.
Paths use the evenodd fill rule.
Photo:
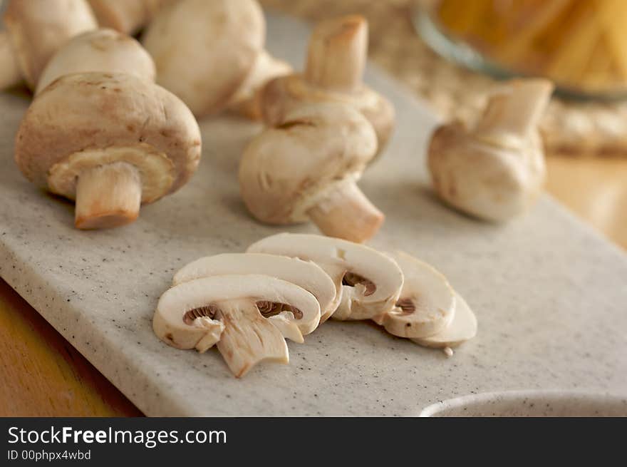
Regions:
<instances>
[{"instance_id":1,"label":"tan mushroom cropped by top edge, directly above the left mushrooms","mask_svg":"<svg viewBox=\"0 0 627 467\"><path fill-rule=\"evenodd\" d=\"M98 23L123 34L135 34L158 11L178 0L88 0Z\"/></svg>"}]
</instances>

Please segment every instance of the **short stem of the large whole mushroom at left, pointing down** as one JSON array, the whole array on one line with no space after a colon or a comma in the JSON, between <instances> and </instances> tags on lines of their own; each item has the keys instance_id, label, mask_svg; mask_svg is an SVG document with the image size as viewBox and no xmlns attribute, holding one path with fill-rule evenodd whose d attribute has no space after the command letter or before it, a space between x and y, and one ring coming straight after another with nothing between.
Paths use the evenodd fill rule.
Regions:
<instances>
[{"instance_id":1,"label":"short stem of the large whole mushroom at left, pointing down","mask_svg":"<svg viewBox=\"0 0 627 467\"><path fill-rule=\"evenodd\" d=\"M140 173L134 165L115 162L83 171L76 183L75 225L103 229L137 219L142 202Z\"/></svg>"}]
</instances>

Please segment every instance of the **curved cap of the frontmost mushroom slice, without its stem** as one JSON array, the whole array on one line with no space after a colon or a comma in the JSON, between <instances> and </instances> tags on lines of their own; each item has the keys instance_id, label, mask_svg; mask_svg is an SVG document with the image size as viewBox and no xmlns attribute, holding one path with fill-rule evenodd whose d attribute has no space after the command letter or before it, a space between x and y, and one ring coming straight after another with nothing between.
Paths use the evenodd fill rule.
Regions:
<instances>
[{"instance_id":1,"label":"curved cap of the frontmost mushroom slice, without its stem","mask_svg":"<svg viewBox=\"0 0 627 467\"><path fill-rule=\"evenodd\" d=\"M192 310L208 312L219 302L242 299L286 304L308 316L320 315L316 297L291 282L264 274L228 274L193 279L168 289L159 299L152 327L157 337L172 347L192 349L207 334ZM189 314L186 319L188 312L192 312L191 319Z\"/></svg>"}]
</instances>

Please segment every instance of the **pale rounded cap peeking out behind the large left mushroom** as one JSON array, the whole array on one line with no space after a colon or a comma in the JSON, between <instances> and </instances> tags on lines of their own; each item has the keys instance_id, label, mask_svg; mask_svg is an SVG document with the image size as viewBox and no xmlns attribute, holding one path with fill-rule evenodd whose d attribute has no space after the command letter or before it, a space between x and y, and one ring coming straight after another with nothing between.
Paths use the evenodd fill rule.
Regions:
<instances>
[{"instance_id":1,"label":"pale rounded cap peeking out behind the large left mushroom","mask_svg":"<svg viewBox=\"0 0 627 467\"><path fill-rule=\"evenodd\" d=\"M129 73L150 82L157 73L155 63L138 41L113 29L96 29L73 37L53 55L35 94L59 76L88 71Z\"/></svg>"}]
</instances>

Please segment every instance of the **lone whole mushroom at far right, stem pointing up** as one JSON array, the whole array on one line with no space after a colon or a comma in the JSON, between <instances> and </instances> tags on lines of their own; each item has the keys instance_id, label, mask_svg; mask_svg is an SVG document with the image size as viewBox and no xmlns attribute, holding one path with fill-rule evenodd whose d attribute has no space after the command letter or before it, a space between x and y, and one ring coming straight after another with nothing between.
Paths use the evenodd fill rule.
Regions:
<instances>
[{"instance_id":1,"label":"lone whole mushroom at far right, stem pointing up","mask_svg":"<svg viewBox=\"0 0 627 467\"><path fill-rule=\"evenodd\" d=\"M544 79L512 81L489 97L474 128L457 121L437 128L428 165L442 200L492 221L528 210L546 177L538 123L552 91Z\"/></svg>"}]
</instances>

